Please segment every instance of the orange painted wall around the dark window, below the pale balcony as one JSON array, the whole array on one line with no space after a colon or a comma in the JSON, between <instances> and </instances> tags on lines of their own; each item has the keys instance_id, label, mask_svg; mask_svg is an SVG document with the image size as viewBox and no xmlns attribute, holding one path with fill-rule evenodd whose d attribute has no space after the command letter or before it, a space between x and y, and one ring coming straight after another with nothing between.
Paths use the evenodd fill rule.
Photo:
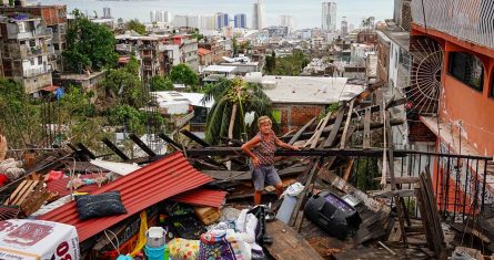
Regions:
<instances>
[{"instance_id":1,"label":"orange painted wall around the dark window, below the pale balcony","mask_svg":"<svg viewBox=\"0 0 494 260\"><path fill-rule=\"evenodd\" d=\"M429 35L437 40L444 49L443 96L441 119L463 121L463 139L476 147L478 155L494 155L494 97L491 97L494 74L494 50L457 40L448 34L414 24L413 35ZM468 52L484 63L484 90L478 92L447 73L450 52ZM456 131L458 127L454 127ZM465 135L466 133L466 135Z\"/></svg>"}]
</instances>

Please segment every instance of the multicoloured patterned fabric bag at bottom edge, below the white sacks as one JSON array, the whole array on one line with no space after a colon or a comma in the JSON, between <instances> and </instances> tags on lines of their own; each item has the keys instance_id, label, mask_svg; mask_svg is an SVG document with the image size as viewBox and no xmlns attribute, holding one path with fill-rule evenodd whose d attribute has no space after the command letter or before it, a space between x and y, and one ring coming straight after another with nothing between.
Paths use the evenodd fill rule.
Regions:
<instances>
[{"instance_id":1,"label":"multicoloured patterned fabric bag at bottom edge, below the white sacks","mask_svg":"<svg viewBox=\"0 0 494 260\"><path fill-rule=\"evenodd\" d=\"M224 230L201 235L198 260L236 260L225 235Z\"/></svg>"}]
</instances>

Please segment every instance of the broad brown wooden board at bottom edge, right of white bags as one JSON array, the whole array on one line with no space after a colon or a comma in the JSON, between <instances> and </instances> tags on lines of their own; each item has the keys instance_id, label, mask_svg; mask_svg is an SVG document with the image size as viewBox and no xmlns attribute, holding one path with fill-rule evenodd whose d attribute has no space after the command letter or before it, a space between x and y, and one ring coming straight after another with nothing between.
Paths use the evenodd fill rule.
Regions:
<instances>
[{"instance_id":1,"label":"broad brown wooden board at bottom edge, right of white bags","mask_svg":"<svg viewBox=\"0 0 494 260\"><path fill-rule=\"evenodd\" d=\"M265 248L275 260L323 259L302 236L282 221L268 222L266 227L273 243Z\"/></svg>"}]
</instances>

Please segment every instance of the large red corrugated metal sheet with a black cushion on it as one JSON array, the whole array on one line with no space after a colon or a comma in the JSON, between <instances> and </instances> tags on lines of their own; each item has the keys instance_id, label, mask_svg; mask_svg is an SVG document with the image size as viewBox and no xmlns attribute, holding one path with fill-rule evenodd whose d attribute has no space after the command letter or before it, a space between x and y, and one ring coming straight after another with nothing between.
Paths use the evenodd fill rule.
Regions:
<instances>
[{"instance_id":1,"label":"large red corrugated metal sheet with a black cushion on it","mask_svg":"<svg viewBox=\"0 0 494 260\"><path fill-rule=\"evenodd\" d=\"M75 202L72 201L39 219L75 226L79 240L84 241L159 201L211 180L211 177L194 169L181 153L174 153L92 193L119 190L127 215L80 220Z\"/></svg>"}]
</instances>

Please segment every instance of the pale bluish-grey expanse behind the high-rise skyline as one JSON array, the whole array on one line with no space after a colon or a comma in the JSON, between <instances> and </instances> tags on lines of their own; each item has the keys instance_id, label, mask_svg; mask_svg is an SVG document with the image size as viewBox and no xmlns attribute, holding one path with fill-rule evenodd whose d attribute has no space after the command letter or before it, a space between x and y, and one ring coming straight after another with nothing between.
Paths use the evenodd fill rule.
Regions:
<instances>
[{"instance_id":1,"label":"pale bluish-grey expanse behind the high-rise skyline","mask_svg":"<svg viewBox=\"0 0 494 260\"><path fill-rule=\"evenodd\" d=\"M69 11L78 8L83 12L99 15L103 7L110 7L112 15L124 20L139 19L150 21L151 10L170 11L175 14L213 14L226 12L230 15L245 13L248 24L251 24L252 3L254 0L38 0L41 4L63 3ZM364 17L375 17L382 21L393 17L393 0L335 0L337 3L337 24L342 17L347 17L350 23L359 25ZM268 25L278 25L281 14L293 15L295 27L321 27L321 0L264 0ZM340 25L339 25L340 27Z\"/></svg>"}]
</instances>

